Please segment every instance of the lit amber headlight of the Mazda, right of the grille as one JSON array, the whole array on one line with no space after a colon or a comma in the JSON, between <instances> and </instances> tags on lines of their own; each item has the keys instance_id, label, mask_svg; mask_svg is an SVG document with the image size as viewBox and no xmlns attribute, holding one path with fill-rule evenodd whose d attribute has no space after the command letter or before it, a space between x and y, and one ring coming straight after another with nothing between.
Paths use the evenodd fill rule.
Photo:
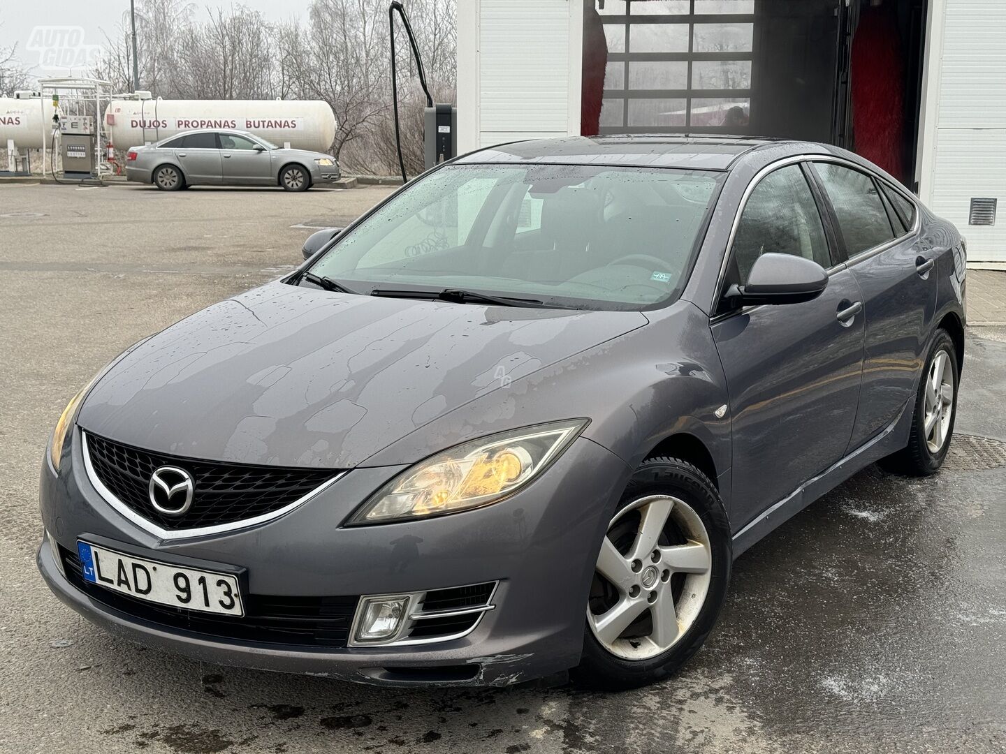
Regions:
<instances>
[{"instance_id":1,"label":"lit amber headlight of the Mazda, right of the grille","mask_svg":"<svg viewBox=\"0 0 1006 754\"><path fill-rule=\"evenodd\" d=\"M513 429L445 450L395 477L346 524L386 524L497 503L547 468L586 422L573 419Z\"/></svg>"}]
</instances>

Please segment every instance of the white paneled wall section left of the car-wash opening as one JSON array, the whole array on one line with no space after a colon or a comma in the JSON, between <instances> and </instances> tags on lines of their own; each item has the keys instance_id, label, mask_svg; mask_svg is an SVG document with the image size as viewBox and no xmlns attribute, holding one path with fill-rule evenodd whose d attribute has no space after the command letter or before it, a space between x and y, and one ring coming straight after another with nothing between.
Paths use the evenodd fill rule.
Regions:
<instances>
[{"instance_id":1,"label":"white paneled wall section left of the car-wash opening","mask_svg":"<svg viewBox=\"0 0 1006 754\"><path fill-rule=\"evenodd\" d=\"M458 3L458 150L579 133L573 0Z\"/></svg>"}]
</instances>

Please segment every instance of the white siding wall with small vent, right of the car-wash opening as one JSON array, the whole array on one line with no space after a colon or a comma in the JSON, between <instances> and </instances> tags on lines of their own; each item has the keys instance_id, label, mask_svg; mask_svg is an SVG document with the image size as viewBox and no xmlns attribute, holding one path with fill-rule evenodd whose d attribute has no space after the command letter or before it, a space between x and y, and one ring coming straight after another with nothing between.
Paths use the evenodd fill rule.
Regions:
<instances>
[{"instance_id":1,"label":"white siding wall with small vent, right of the car-wash opening","mask_svg":"<svg viewBox=\"0 0 1006 754\"><path fill-rule=\"evenodd\" d=\"M948 0L930 201L968 238L970 261L1006 261L1006 2ZM968 225L995 197L994 226Z\"/></svg>"}]
</instances>

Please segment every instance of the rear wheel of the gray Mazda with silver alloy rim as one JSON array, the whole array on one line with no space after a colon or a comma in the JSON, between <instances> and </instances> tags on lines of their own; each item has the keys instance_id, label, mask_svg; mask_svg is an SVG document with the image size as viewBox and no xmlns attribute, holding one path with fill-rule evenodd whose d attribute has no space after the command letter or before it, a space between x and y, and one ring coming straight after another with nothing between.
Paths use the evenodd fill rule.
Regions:
<instances>
[{"instance_id":1,"label":"rear wheel of the gray Mazda with silver alloy rim","mask_svg":"<svg viewBox=\"0 0 1006 754\"><path fill-rule=\"evenodd\" d=\"M908 477L928 477L943 465L954 435L961 369L950 334L937 331L919 380L908 444L880 463Z\"/></svg>"}]
</instances>

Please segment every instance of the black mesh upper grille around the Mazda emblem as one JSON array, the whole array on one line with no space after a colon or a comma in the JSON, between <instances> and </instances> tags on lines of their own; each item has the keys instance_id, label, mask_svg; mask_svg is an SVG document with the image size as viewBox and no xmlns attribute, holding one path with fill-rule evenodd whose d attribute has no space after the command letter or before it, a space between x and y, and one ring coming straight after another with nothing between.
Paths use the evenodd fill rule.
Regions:
<instances>
[{"instance_id":1,"label":"black mesh upper grille around the Mazda emblem","mask_svg":"<svg viewBox=\"0 0 1006 754\"><path fill-rule=\"evenodd\" d=\"M279 511L339 474L327 468L220 463L180 458L86 433L95 475L123 505L162 529L178 531L232 524ZM166 516L150 503L150 478L162 465L188 472L192 506Z\"/></svg>"}]
</instances>

